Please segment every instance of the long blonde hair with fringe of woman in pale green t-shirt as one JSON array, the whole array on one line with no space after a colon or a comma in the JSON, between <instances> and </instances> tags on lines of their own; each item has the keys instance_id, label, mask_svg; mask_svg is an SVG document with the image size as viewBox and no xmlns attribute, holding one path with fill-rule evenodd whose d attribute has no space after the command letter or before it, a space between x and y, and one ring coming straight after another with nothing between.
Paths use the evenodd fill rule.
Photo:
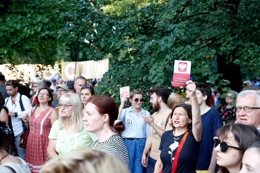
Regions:
<instances>
[{"instance_id":1,"label":"long blonde hair with fringe of woman in pale green t-shirt","mask_svg":"<svg viewBox=\"0 0 260 173\"><path fill-rule=\"evenodd\" d=\"M76 129L77 132L80 132L84 127L83 112L81 107L81 99L78 94L75 93L65 93L60 97L59 103L62 104L71 104L73 105L73 112L71 115L72 128ZM60 109L61 110L61 109ZM59 112L59 129L65 128L66 120L61 116Z\"/></svg>"}]
</instances>

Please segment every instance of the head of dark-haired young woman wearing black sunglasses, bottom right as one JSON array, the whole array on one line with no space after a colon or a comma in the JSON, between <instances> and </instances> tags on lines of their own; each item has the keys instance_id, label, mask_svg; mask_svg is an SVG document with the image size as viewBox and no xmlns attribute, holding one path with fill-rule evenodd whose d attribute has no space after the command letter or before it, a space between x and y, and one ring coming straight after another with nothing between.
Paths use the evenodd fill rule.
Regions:
<instances>
[{"instance_id":1,"label":"head of dark-haired young woman wearing black sunglasses, bottom right","mask_svg":"<svg viewBox=\"0 0 260 173\"><path fill-rule=\"evenodd\" d=\"M237 173L242 165L242 157L248 146L260 139L260 134L253 126L228 124L222 126L214 137L217 151L218 173Z\"/></svg>"}]
</instances>

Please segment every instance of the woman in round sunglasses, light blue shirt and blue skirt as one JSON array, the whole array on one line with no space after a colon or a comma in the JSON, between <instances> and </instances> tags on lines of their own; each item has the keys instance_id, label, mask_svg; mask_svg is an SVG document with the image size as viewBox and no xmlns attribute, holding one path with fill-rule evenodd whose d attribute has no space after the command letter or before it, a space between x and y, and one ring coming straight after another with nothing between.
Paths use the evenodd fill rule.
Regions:
<instances>
[{"instance_id":1,"label":"woman in round sunglasses, light blue shirt and blue skirt","mask_svg":"<svg viewBox=\"0 0 260 173\"><path fill-rule=\"evenodd\" d=\"M144 121L142 116L144 115L151 118L151 115L141 107L144 99L140 90L132 90L130 92L129 101L132 106L123 109L126 101L126 97L121 98L117 119L122 121L125 125L125 131L122 133L122 138L124 139L129 152L132 172L142 173L144 167L141 159L145 141L150 129L150 125Z\"/></svg>"}]
</instances>

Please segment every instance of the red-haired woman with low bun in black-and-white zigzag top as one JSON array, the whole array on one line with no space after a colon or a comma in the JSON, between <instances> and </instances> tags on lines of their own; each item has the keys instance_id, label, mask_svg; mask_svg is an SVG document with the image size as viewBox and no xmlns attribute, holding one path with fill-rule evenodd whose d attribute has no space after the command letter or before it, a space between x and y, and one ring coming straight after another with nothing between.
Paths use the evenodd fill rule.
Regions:
<instances>
[{"instance_id":1,"label":"red-haired woman with low bun in black-and-white zigzag top","mask_svg":"<svg viewBox=\"0 0 260 173\"><path fill-rule=\"evenodd\" d=\"M85 110L83 121L85 121L86 130L98 136L98 140L90 149L119 157L128 168L128 150L119 136L125 130L125 125L117 120L118 107L115 101L107 95L94 97L90 99ZM119 135L113 131L113 128Z\"/></svg>"}]
</instances>

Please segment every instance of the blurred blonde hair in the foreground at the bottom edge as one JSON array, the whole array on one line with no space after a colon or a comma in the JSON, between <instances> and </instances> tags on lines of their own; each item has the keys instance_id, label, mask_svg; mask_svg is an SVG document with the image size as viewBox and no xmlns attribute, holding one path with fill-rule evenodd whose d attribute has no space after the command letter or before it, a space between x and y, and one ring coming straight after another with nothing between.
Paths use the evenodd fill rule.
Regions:
<instances>
[{"instance_id":1,"label":"blurred blonde hair in the foreground at the bottom edge","mask_svg":"<svg viewBox=\"0 0 260 173\"><path fill-rule=\"evenodd\" d=\"M76 150L48 161L41 173L129 173L122 161L97 150Z\"/></svg>"}]
</instances>

